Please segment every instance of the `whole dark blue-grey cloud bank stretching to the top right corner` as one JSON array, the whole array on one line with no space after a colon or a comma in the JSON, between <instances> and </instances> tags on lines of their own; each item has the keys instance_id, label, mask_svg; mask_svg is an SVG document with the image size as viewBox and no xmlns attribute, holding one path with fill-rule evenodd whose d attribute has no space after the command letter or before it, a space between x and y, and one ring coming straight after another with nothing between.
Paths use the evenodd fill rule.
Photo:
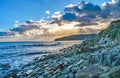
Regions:
<instances>
[{"instance_id":1,"label":"whole dark blue-grey cloud bank stretching to the top right corner","mask_svg":"<svg viewBox=\"0 0 120 78\"><path fill-rule=\"evenodd\" d=\"M111 2L105 2L102 6L94 5L89 2L82 1L78 5L70 4L65 7L65 14L62 16L62 20L67 21L93 21L95 19L104 18L120 18L120 0L112 0ZM73 13L74 16L69 13ZM69 19L70 18L70 19Z\"/></svg>"}]
</instances>

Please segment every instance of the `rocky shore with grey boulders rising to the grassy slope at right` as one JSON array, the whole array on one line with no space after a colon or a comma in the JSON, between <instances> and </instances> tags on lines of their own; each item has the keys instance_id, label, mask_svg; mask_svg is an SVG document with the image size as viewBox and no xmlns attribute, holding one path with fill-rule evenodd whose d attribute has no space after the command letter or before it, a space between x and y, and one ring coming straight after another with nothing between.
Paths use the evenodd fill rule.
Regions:
<instances>
[{"instance_id":1,"label":"rocky shore with grey boulders rising to the grassy slope at right","mask_svg":"<svg viewBox=\"0 0 120 78\"><path fill-rule=\"evenodd\" d=\"M60 53L35 58L5 78L120 78L120 24Z\"/></svg>"}]
</instances>

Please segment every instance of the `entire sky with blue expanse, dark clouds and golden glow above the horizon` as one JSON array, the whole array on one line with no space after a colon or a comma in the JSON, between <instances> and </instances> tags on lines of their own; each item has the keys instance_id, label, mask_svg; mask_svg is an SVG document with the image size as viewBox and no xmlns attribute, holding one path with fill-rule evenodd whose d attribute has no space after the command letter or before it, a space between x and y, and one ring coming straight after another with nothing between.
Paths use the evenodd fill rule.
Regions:
<instances>
[{"instance_id":1,"label":"entire sky with blue expanse, dark clouds and golden glow above the horizon","mask_svg":"<svg viewBox=\"0 0 120 78\"><path fill-rule=\"evenodd\" d=\"M119 11L120 0L0 0L0 41L97 34Z\"/></svg>"}]
</instances>

